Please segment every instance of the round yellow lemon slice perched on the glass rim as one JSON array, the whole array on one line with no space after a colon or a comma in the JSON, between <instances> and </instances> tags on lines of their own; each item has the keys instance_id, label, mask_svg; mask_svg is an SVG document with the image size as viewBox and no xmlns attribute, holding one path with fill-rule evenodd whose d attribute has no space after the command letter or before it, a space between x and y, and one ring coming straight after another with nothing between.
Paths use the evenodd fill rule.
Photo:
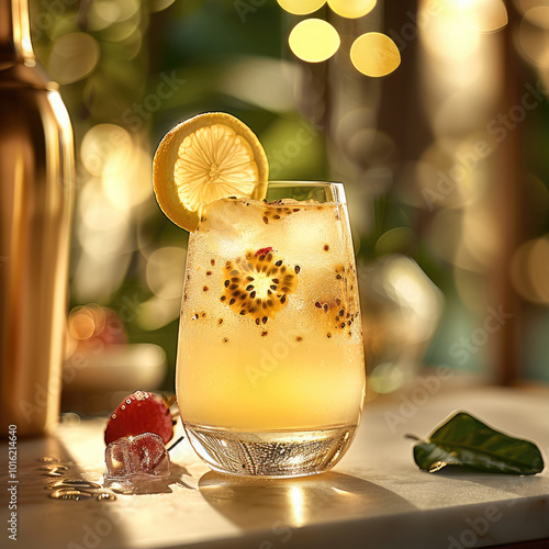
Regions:
<instances>
[{"instance_id":1,"label":"round yellow lemon slice perched on the glass rim","mask_svg":"<svg viewBox=\"0 0 549 549\"><path fill-rule=\"evenodd\" d=\"M251 130L223 112L199 114L172 127L153 163L153 187L163 212L195 231L204 204L226 197L261 200L269 165Z\"/></svg>"}]
</instances>

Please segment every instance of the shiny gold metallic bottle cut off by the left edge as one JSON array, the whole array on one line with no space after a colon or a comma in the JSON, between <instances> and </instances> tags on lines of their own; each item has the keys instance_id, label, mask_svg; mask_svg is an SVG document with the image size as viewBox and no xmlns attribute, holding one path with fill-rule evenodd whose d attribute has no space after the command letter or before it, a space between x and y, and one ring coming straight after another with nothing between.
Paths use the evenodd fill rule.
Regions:
<instances>
[{"instance_id":1,"label":"shiny gold metallic bottle cut off by the left edge","mask_svg":"<svg viewBox=\"0 0 549 549\"><path fill-rule=\"evenodd\" d=\"M25 19L26 0L0 0L0 437L57 422L67 312L72 130Z\"/></svg>"}]
</instances>

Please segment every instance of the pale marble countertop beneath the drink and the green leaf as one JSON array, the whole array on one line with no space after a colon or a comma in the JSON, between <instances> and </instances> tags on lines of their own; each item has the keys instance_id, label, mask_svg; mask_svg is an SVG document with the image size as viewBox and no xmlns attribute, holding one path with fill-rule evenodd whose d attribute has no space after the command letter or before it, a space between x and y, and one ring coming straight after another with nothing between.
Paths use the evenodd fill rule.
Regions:
<instances>
[{"instance_id":1,"label":"pale marble countertop beneath the drink and the green leaf","mask_svg":"<svg viewBox=\"0 0 549 549\"><path fill-rule=\"evenodd\" d=\"M448 548L547 538L549 469L534 477L429 474L412 458L405 433L427 436L463 410L534 440L549 459L549 393L518 389L416 390L367 405L357 438L332 472L295 480L235 479L211 472L187 442L172 450L169 481L156 493L116 501L48 497L64 477L102 481L103 421L61 424L55 436L18 440L16 538L20 549L145 548ZM2 537L8 545L8 444L0 455ZM63 478L63 477L60 477ZM5 500L5 501L4 501ZM5 539L5 544L4 544Z\"/></svg>"}]
</instances>

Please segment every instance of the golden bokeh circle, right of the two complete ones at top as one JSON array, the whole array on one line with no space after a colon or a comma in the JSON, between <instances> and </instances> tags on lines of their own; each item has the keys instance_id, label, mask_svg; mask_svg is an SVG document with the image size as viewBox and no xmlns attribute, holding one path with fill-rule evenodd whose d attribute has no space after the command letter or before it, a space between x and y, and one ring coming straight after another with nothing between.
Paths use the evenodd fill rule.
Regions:
<instances>
[{"instance_id":1,"label":"golden bokeh circle, right of the two complete ones at top","mask_svg":"<svg viewBox=\"0 0 549 549\"><path fill-rule=\"evenodd\" d=\"M350 59L362 75L382 77L396 69L401 64L401 54L385 34L366 33L354 42Z\"/></svg>"}]
</instances>

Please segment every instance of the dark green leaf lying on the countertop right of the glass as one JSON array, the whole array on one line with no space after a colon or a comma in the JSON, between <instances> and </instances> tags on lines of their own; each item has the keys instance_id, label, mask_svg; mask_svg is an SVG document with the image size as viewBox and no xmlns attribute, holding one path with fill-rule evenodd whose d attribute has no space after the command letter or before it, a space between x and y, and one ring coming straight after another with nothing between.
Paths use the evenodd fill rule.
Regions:
<instances>
[{"instance_id":1,"label":"dark green leaf lying on the countertop right of the glass","mask_svg":"<svg viewBox=\"0 0 549 549\"><path fill-rule=\"evenodd\" d=\"M427 440L417 442L414 460L432 473L449 466L500 474L544 470L544 458L534 442L504 435L464 412L450 416Z\"/></svg>"}]
</instances>

